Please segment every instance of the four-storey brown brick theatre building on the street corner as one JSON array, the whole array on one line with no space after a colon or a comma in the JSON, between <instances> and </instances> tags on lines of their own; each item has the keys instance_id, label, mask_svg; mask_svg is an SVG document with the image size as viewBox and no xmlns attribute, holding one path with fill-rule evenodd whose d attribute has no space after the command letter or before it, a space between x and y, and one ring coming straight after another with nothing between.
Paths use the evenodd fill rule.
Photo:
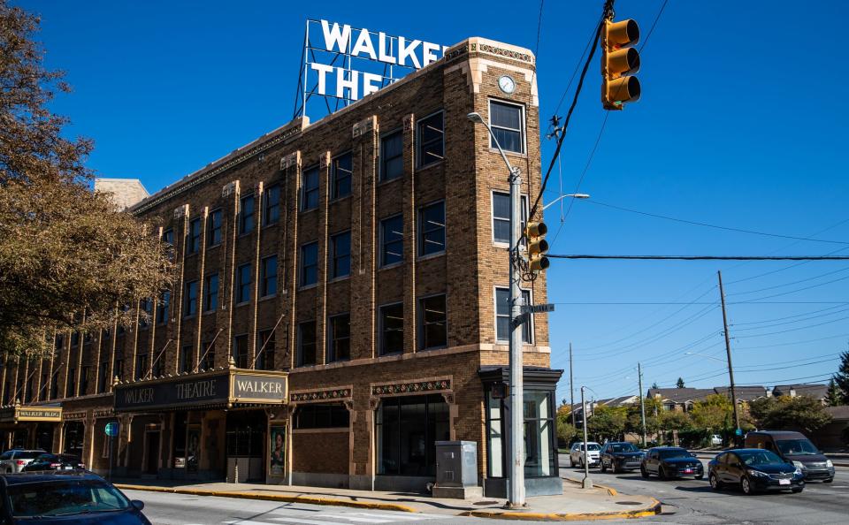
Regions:
<instances>
[{"instance_id":1,"label":"four-storey brown brick theatre building on the street corner","mask_svg":"<svg viewBox=\"0 0 849 525\"><path fill-rule=\"evenodd\" d=\"M80 453L103 472L103 428L119 422L119 476L420 491L433 442L463 439L478 443L486 493L503 496L507 407L490 394L508 377L509 184L466 115L521 168L527 209L535 82L530 51L470 38L132 206L172 246L176 284L130 307L149 322L57 334L52 359L5 363L4 444ZM544 276L524 290L547 299ZM528 493L555 493L562 371L547 316L523 330Z\"/></svg>"}]
</instances>

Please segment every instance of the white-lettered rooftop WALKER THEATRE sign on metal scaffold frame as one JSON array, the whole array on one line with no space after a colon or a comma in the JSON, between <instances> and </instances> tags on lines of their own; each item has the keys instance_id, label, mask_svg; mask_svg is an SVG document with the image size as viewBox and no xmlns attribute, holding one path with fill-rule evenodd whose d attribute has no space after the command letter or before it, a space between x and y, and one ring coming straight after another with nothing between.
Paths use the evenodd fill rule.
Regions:
<instances>
[{"instance_id":1,"label":"white-lettered rooftop WALKER THEATRE sign on metal scaffold frame","mask_svg":"<svg viewBox=\"0 0 849 525\"><path fill-rule=\"evenodd\" d=\"M348 24L307 20L294 116L307 113L313 95L324 98L328 113L338 110L436 62L446 49Z\"/></svg>"}]
</instances>

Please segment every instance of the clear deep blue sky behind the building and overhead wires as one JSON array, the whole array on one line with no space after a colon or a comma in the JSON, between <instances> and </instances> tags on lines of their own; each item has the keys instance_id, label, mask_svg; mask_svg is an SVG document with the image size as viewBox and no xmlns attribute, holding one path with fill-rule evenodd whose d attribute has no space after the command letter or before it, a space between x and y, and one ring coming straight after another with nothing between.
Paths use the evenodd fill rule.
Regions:
<instances>
[{"instance_id":1,"label":"clear deep blue sky behind the building and overhead wires","mask_svg":"<svg viewBox=\"0 0 849 525\"><path fill-rule=\"evenodd\" d=\"M104 177L140 178L149 191L291 118L304 19L444 44L479 35L534 49L539 14L538 3L495 0L14 4L42 14L47 64L65 69L74 87L54 107L73 119L68 133L96 141L90 165ZM601 4L545 3L541 118L555 112ZM645 36L661 5L620 0L617 18L637 19ZM642 52L643 98L609 115L580 190L593 202L655 214L849 241L849 222L839 224L849 219L842 92L849 71L840 67L844 28L834 16L841 6L670 0ZM605 118L599 84L595 63L563 146L565 193L575 189ZM554 148L543 141L547 165ZM548 201L560 192L560 173L555 168ZM547 211L551 239L561 216L559 206ZM824 255L844 247L576 202L552 253ZM557 303L553 366L568 371L572 341L576 384L594 398L637 392L637 361L646 388L671 386L679 376L688 386L727 384L722 361L684 354L723 357L720 269L738 384L824 380L837 368L849 340L849 303L828 301L849 301L845 262L555 261L548 270ZM753 300L786 304L746 302ZM565 381L558 393L568 396Z\"/></svg>"}]
</instances>

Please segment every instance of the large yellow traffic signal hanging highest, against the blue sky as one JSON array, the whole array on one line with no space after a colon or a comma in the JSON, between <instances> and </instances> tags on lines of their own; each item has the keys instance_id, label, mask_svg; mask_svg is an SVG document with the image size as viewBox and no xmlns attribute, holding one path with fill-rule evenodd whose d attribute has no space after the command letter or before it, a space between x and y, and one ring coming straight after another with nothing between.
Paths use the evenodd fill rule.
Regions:
<instances>
[{"instance_id":1,"label":"large yellow traffic signal hanging highest, against the blue sky","mask_svg":"<svg viewBox=\"0 0 849 525\"><path fill-rule=\"evenodd\" d=\"M605 110L622 110L623 103L639 100L639 26L631 19L605 20L601 27L601 104Z\"/></svg>"}]
</instances>

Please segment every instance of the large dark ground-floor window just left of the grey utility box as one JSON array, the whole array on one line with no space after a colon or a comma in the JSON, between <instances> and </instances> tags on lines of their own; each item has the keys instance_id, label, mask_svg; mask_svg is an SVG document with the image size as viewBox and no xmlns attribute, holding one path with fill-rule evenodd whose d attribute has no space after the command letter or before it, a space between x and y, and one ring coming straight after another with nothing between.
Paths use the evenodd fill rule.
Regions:
<instances>
[{"instance_id":1,"label":"large dark ground-floor window just left of the grey utility box","mask_svg":"<svg viewBox=\"0 0 849 525\"><path fill-rule=\"evenodd\" d=\"M440 394L381 399L375 427L378 474L436 474L436 442L451 437L448 405Z\"/></svg>"}]
</instances>

